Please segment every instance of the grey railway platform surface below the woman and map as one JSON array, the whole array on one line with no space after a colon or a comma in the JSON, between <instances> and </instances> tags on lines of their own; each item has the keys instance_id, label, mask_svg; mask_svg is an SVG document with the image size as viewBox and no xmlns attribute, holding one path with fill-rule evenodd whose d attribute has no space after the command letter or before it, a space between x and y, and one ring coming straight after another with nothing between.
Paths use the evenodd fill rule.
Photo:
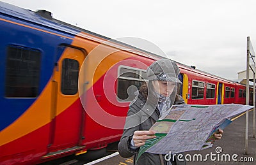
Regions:
<instances>
[{"instance_id":1,"label":"grey railway platform surface below the woman and map","mask_svg":"<svg viewBox=\"0 0 256 165\"><path fill-rule=\"evenodd\" d=\"M249 137L248 154L245 154L245 115L236 118L225 128L221 140L217 140L212 148L200 151L184 152L187 164L256 164L256 138L253 138L253 111L249 112ZM201 158L202 157L202 158ZM100 162L90 164L106 165L130 165L133 159L122 158L117 153L113 157L107 157Z\"/></svg>"}]
</instances>

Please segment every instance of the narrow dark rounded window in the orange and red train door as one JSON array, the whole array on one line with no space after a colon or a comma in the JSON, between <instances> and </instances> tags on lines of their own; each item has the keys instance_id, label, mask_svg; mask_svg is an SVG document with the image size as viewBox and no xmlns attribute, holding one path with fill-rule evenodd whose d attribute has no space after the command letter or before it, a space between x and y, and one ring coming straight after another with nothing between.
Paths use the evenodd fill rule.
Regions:
<instances>
[{"instance_id":1,"label":"narrow dark rounded window in the orange and red train door","mask_svg":"<svg viewBox=\"0 0 256 165\"><path fill-rule=\"evenodd\" d=\"M66 95L77 93L79 63L74 59L63 59L61 73L61 92Z\"/></svg>"}]
</instances>

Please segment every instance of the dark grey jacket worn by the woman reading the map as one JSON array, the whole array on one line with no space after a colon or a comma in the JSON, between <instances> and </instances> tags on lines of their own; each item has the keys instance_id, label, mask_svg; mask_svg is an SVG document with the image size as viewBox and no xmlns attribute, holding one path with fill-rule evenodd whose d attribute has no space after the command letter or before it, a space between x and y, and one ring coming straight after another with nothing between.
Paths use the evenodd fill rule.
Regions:
<instances>
[{"instance_id":1,"label":"dark grey jacket worn by the woman reading the map","mask_svg":"<svg viewBox=\"0 0 256 165\"><path fill-rule=\"evenodd\" d=\"M174 104L185 104L185 102L181 96L176 95ZM151 153L142 154L136 162L140 148L136 150L130 148L134 131L148 131L153 125L152 122L156 122L159 118L157 111L157 106L148 104L141 94L139 94L138 99L134 103L131 103L125 121L124 133L118 144L118 151L122 157L131 157L134 155L134 164L167 164L164 156ZM163 157L162 163L160 157ZM176 160L172 164L186 164L186 162Z\"/></svg>"}]
</instances>

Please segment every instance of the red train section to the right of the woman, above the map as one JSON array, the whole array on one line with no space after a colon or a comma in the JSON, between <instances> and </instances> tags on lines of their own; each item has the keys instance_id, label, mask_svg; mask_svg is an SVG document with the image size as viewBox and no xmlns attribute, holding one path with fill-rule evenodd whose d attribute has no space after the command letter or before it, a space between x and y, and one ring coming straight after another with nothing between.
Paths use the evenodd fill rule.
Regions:
<instances>
[{"instance_id":1,"label":"red train section to the right of the woman, above the map","mask_svg":"<svg viewBox=\"0 0 256 165\"><path fill-rule=\"evenodd\" d=\"M246 85L179 64L180 95L188 104L245 104ZM253 89L250 88L250 104Z\"/></svg>"}]
</instances>

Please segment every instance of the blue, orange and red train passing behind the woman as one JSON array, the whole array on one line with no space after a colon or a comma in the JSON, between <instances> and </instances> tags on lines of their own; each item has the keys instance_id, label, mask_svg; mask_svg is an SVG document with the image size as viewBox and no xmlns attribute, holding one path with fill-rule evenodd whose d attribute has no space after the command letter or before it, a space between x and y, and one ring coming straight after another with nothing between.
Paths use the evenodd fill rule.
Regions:
<instances>
[{"instance_id":1,"label":"blue, orange and red train passing behind the woman","mask_svg":"<svg viewBox=\"0 0 256 165\"><path fill-rule=\"evenodd\" d=\"M147 81L147 66L161 58L3 2L0 36L0 164L39 164L116 144L134 98L127 90ZM186 103L245 104L244 85L178 65Z\"/></svg>"}]
</instances>

